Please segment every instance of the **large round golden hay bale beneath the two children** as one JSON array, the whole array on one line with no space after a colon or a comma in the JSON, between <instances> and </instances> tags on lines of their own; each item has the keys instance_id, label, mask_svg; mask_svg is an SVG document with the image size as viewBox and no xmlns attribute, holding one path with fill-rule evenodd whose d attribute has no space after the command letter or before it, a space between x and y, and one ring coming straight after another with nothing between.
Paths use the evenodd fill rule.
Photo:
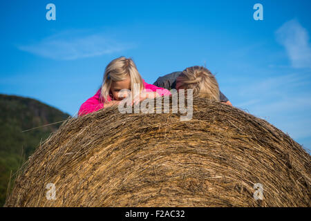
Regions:
<instances>
[{"instance_id":1,"label":"large round golden hay bale beneath the two children","mask_svg":"<svg viewBox=\"0 0 311 221\"><path fill-rule=\"evenodd\" d=\"M310 206L311 157L288 135L207 99L180 115L106 108L68 120L6 206Z\"/></svg>"}]
</instances>

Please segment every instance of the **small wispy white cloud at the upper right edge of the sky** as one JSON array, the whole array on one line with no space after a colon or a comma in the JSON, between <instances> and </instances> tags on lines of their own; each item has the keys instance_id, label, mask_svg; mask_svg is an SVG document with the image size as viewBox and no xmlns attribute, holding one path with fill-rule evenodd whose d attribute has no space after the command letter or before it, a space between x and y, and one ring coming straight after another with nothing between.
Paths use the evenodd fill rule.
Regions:
<instances>
[{"instance_id":1,"label":"small wispy white cloud at the upper right edge of the sky","mask_svg":"<svg viewBox=\"0 0 311 221\"><path fill-rule=\"evenodd\" d=\"M285 47L293 68L311 68L308 31L292 19L276 30L276 40Z\"/></svg>"}]
</instances>

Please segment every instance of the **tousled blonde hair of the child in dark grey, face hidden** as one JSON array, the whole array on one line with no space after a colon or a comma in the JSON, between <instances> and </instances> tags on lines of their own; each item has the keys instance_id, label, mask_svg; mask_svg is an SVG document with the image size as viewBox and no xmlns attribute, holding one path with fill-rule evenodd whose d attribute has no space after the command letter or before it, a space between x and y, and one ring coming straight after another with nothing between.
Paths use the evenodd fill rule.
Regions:
<instances>
[{"instance_id":1,"label":"tousled blonde hair of the child in dark grey, face hidden","mask_svg":"<svg viewBox=\"0 0 311 221\"><path fill-rule=\"evenodd\" d=\"M180 73L177 81L178 88L193 89L194 97L220 101L218 82L207 68L202 66L186 68Z\"/></svg>"}]
</instances>

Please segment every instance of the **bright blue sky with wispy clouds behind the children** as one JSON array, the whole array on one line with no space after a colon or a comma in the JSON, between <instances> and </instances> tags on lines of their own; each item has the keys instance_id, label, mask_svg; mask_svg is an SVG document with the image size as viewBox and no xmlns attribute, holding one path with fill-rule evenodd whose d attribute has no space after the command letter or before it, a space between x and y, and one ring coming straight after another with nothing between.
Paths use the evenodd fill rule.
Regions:
<instances>
[{"instance_id":1,"label":"bright blue sky with wispy clouds behind the children","mask_svg":"<svg viewBox=\"0 0 311 221\"><path fill-rule=\"evenodd\" d=\"M0 93L75 115L116 57L132 57L149 84L206 62L234 106L310 149L310 10L308 0L1 1Z\"/></svg>"}]
</instances>

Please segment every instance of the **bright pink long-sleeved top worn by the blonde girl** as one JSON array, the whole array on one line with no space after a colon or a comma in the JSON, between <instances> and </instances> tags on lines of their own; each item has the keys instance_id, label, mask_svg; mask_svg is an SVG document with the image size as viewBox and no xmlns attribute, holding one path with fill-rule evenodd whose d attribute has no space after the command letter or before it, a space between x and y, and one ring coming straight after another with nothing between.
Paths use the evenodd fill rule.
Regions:
<instances>
[{"instance_id":1,"label":"bright pink long-sleeved top worn by the blonde girl","mask_svg":"<svg viewBox=\"0 0 311 221\"><path fill-rule=\"evenodd\" d=\"M158 90L157 92L160 96L171 95L171 93L167 89L159 88L158 86L155 86L153 84L147 84L144 79L142 79L142 82L144 83L145 89L149 89L152 91ZM104 108L104 103L100 102L100 90L97 90L97 93L93 97L88 98L86 102L81 105L78 113L79 116L86 115L88 113L92 113ZM109 99L108 97L107 100L109 101L111 99Z\"/></svg>"}]
</instances>

